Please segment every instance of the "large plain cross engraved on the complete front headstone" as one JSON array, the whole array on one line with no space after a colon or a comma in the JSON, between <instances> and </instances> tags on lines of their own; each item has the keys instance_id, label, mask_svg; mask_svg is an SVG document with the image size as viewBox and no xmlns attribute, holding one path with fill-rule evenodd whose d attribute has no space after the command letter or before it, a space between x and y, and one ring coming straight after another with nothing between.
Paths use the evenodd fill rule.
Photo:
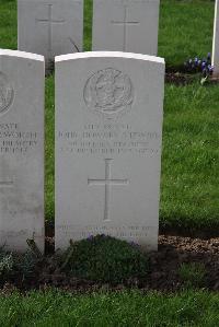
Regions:
<instances>
[{"instance_id":1,"label":"large plain cross engraved on the complete front headstone","mask_svg":"<svg viewBox=\"0 0 219 327\"><path fill-rule=\"evenodd\" d=\"M88 179L89 185L105 186L104 221L110 221L110 196L112 185L128 185L128 179L113 179L111 176L111 162L113 159L105 159L105 178Z\"/></svg>"}]
</instances>

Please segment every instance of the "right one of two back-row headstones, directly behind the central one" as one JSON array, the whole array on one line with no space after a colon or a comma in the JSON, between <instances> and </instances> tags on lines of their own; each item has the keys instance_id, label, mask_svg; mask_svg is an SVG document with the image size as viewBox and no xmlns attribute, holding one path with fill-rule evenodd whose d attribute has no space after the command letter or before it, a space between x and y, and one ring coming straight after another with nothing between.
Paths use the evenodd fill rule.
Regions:
<instances>
[{"instance_id":1,"label":"right one of two back-row headstones, directly behind the central one","mask_svg":"<svg viewBox=\"0 0 219 327\"><path fill-rule=\"evenodd\" d=\"M94 0L93 50L157 56L160 0Z\"/></svg>"}]
</instances>

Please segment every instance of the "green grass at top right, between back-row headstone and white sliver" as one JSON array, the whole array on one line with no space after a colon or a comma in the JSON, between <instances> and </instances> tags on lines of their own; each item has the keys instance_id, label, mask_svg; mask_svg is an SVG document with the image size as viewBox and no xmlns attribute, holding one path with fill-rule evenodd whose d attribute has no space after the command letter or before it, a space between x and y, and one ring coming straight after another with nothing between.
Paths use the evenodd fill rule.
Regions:
<instances>
[{"instance_id":1,"label":"green grass at top right, between back-row headstone and white sliver","mask_svg":"<svg viewBox=\"0 0 219 327\"><path fill-rule=\"evenodd\" d=\"M158 55L166 67L211 52L214 9L211 0L161 0Z\"/></svg>"}]
</instances>

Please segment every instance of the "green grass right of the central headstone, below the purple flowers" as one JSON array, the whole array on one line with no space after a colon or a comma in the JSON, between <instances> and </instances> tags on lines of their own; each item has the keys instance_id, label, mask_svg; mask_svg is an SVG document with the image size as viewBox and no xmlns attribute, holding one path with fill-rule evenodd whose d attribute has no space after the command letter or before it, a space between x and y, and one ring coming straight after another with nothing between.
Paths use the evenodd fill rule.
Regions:
<instances>
[{"instance_id":1,"label":"green grass right of the central headstone, below the purple flowers","mask_svg":"<svg viewBox=\"0 0 219 327\"><path fill-rule=\"evenodd\" d=\"M219 92L166 85L161 182L161 225L219 226Z\"/></svg>"}]
</instances>

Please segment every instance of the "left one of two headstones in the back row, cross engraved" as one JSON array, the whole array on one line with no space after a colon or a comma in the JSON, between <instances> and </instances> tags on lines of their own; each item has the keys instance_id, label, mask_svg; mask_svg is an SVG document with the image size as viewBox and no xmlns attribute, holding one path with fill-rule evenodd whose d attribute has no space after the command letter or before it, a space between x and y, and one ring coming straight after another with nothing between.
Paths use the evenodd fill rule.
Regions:
<instances>
[{"instance_id":1,"label":"left one of two headstones in the back row, cross engraved","mask_svg":"<svg viewBox=\"0 0 219 327\"><path fill-rule=\"evenodd\" d=\"M19 49L55 56L79 52L83 40L83 0L18 0Z\"/></svg>"}]
</instances>

